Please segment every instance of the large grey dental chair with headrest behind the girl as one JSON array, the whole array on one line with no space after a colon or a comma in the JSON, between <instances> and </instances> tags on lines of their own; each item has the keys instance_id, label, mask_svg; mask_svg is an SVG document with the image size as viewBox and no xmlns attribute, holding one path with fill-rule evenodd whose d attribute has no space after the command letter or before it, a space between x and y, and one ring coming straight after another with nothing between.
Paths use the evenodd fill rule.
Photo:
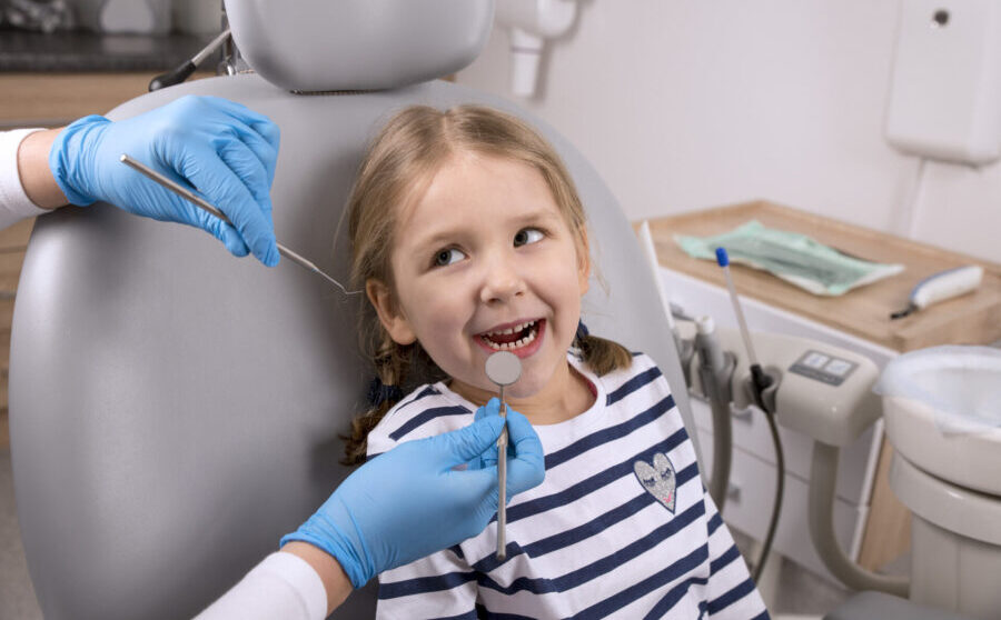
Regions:
<instances>
[{"instance_id":1,"label":"large grey dental chair with headrest behind the girl","mask_svg":"<svg viewBox=\"0 0 1001 620\"><path fill-rule=\"evenodd\" d=\"M694 428L653 276L637 269L633 231L595 170L511 102L433 80L477 56L493 0L226 4L254 72L108 116L212 94L270 117L281 129L277 237L341 281L349 248L346 227L335 230L364 149L394 111L479 102L526 118L564 158L591 218L607 289L593 283L584 321L650 353ZM107 204L40 218L14 311L10 426L44 617L191 617L276 550L348 473L338 436L373 377L354 329L363 302L291 261L267 269L200 230ZM373 582L334 618L374 607Z\"/></svg>"}]
</instances>

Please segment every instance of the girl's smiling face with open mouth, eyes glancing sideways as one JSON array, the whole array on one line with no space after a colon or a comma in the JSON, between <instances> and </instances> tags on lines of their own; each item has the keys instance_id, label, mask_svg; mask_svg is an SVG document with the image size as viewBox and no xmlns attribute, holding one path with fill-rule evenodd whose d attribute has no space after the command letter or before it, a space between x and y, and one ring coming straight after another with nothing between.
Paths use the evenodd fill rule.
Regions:
<instances>
[{"instance_id":1,"label":"girl's smiling face with open mouth, eyes glancing sideways","mask_svg":"<svg viewBox=\"0 0 1001 620\"><path fill-rule=\"evenodd\" d=\"M521 379L505 390L513 398L568 377L566 350L587 291L586 239L578 253L538 171L459 152L398 216L395 294L376 280L366 286L394 341L419 341L453 389L476 400L496 391L484 364L497 350L522 361Z\"/></svg>"}]
</instances>

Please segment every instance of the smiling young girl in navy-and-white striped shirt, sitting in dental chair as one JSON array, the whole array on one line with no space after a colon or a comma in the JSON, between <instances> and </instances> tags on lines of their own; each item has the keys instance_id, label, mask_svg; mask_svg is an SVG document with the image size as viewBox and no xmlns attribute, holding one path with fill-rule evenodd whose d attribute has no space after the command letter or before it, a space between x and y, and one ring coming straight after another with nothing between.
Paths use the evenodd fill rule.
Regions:
<instances>
[{"instance_id":1,"label":"smiling young girl in navy-and-white striped shirt, sitting in dental chair","mask_svg":"<svg viewBox=\"0 0 1001 620\"><path fill-rule=\"evenodd\" d=\"M584 210L544 139L485 108L409 108L348 213L378 377L347 459L468 424L499 350L522 361L505 394L546 453L545 481L508 504L506 561L494 523L383 573L379 618L767 617L666 380L579 322Z\"/></svg>"}]
</instances>

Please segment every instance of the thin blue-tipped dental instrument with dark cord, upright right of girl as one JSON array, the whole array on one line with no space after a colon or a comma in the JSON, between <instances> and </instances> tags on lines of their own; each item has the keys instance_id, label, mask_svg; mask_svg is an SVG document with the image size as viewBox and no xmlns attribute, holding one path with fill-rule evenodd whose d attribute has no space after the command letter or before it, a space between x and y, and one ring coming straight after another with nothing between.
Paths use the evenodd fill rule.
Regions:
<instances>
[{"instance_id":1,"label":"thin blue-tipped dental instrument with dark cord, upright right of girl","mask_svg":"<svg viewBox=\"0 0 1001 620\"><path fill-rule=\"evenodd\" d=\"M765 406L764 399L765 390L769 389L774 381L771 377L765 374L761 364L757 363L757 356L754 353L754 344L751 342L751 334L747 332L747 322L744 320L744 311L741 309L741 302L737 299L736 289L733 286L733 277L730 274L730 257L726 256L725 248L716 248L716 262L723 268L723 278L726 280L726 288L730 290L730 300L733 302L733 311L736 313L737 322L741 326L741 337L744 340L744 348L747 350L747 359L751 362L751 387L754 394L754 401L765 413L765 418L769 421L769 430L772 432L772 443L775 447L775 471L777 473L775 481L775 502L772 506L772 519L769 523L769 531L761 546L761 557L751 574L754 581L759 582L761 581L761 573L764 570L765 560L769 559L769 552L772 550L772 541L775 539L775 529L779 526L779 513L782 509L782 496L785 491L785 454L782 451L782 441L779 439L775 411Z\"/></svg>"}]
</instances>

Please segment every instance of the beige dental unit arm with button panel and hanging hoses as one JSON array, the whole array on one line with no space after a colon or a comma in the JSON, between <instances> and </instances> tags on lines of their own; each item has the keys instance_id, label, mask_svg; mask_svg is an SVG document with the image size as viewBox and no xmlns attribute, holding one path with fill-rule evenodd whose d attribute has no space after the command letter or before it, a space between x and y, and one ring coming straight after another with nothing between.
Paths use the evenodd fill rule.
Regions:
<instances>
[{"instance_id":1,"label":"beige dental unit arm with button panel and hanging hoses","mask_svg":"<svg viewBox=\"0 0 1001 620\"><path fill-rule=\"evenodd\" d=\"M691 393L708 400L713 410L714 456L708 488L714 500L718 496L722 507L730 477L730 416L743 414L754 404L754 397L749 361L740 353L737 330L717 328L718 342L710 349L716 349L715 362L703 361L706 347L697 342L707 338L705 320L681 323L681 330L686 339L696 340L696 356L686 370L692 378ZM872 392L879 368L864 356L814 340L762 332L752 333L751 338L765 372L773 379L764 391L764 404L775 412L780 426L813 439L809 526L824 566L849 588L906 597L910 584L906 578L863 569L849 558L834 534L839 457L842 448L851 446L882 414L880 400ZM727 397L732 400L727 401ZM723 413L731 408L730 416ZM721 450L726 452L725 457L717 456Z\"/></svg>"}]
</instances>

